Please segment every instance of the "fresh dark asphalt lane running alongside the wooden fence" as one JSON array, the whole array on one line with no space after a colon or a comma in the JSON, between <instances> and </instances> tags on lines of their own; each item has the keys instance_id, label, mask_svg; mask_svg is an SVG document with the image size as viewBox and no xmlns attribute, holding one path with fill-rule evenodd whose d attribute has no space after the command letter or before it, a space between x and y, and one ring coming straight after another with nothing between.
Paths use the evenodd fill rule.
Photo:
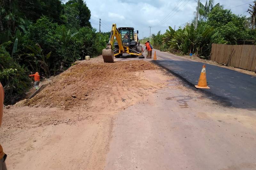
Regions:
<instances>
[{"instance_id":1,"label":"fresh dark asphalt lane running alongside the wooden fence","mask_svg":"<svg viewBox=\"0 0 256 170\"><path fill-rule=\"evenodd\" d=\"M188 81L191 85L197 85L202 66L205 63L187 60L158 50L156 53L157 60L155 62L157 64ZM236 108L256 109L255 76L210 64L205 65L207 83L211 89L203 89L204 92L212 94L223 103ZM200 89L198 90L200 91Z\"/></svg>"}]
</instances>

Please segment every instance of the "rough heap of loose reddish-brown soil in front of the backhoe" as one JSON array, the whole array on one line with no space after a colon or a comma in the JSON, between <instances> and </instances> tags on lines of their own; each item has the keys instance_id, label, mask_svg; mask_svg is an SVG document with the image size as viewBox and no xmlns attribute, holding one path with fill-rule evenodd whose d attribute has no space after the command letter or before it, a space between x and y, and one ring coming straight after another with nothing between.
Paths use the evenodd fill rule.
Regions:
<instances>
[{"instance_id":1,"label":"rough heap of loose reddish-brown soil in front of the backhoe","mask_svg":"<svg viewBox=\"0 0 256 170\"><path fill-rule=\"evenodd\" d=\"M115 93L114 86L136 86L143 84L136 81L133 72L154 70L157 66L151 62L120 61L115 63L81 62L53 79L50 85L29 100L27 106L49 106L69 109L89 107L92 100L100 95L106 97ZM101 101L98 101L100 104Z\"/></svg>"}]
</instances>

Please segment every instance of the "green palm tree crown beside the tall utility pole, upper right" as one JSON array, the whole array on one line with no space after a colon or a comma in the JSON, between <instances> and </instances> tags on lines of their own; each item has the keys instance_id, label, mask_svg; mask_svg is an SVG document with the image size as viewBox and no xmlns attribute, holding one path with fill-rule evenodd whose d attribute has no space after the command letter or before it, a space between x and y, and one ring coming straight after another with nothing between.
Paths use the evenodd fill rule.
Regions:
<instances>
[{"instance_id":1,"label":"green palm tree crown beside the tall utility pole, upper right","mask_svg":"<svg viewBox=\"0 0 256 170\"><path fill-rule=\"evenodd\" d=\"M214 0L209 0L209 2L207 2L206 0L206 3L205 5L203 5L201 2L200 2L200 6L199 6L199 15L200 15L200 19L201 20L207 20L208 18L208 14L216 7L220 7L220 8L224 8L223 5L220 5L220 3L216 4L216 5L213 5L214 4Z\"/></svg>"}]
</instances>

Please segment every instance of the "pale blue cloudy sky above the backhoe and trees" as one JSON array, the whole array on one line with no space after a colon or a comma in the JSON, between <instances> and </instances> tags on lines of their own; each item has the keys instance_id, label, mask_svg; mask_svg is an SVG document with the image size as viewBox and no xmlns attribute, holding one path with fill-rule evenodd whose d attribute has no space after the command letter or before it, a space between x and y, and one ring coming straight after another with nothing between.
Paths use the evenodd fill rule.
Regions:
<instances>
[{"instance_id":1,"label":"pale blue cloudy sky above the backhoe and trees","mask_svg":"<svg viewBox=\"0 0 256 170\"><path fill-rule=\"evenodd\" d=\"M151 33L159 30L164 33L168 26L174 28L176 25L178 28L190 22L194 18L197 5L196 0L86 0L85 2L91 10L92 26L97 30L99 30L98 18L101 18L103 22L101 31L110 31L111 25L116 23L118 27L130 26L139 30L140 38L142 32L144 37L149 36L148 26L153 26ZM200 2L205 4L206 0ZM250 2L252 0L215 0L215 4L220 3L225 9ZM249 16L246 12L248 7L249 4L245 4L232 8L231 11ZM167 16L169 13L170 15Z\"/></svg>"}]
</instances>

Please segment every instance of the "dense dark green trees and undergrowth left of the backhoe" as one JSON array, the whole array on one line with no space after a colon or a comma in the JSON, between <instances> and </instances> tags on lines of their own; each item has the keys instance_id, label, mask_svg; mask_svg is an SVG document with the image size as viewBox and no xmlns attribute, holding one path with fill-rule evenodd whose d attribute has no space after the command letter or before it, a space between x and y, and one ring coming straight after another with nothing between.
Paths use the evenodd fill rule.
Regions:
<instances>
[{"instance_id":1,"label":"dense dark green trees and undergrowth left of the backhoe","mask_svg":"<svg viewBox=\"0 0 256 170\"><path fill-rule=\"evenodd\" d=\"M31 87L30 72L56 75L76 60L102 53L109 33L92 28L83 0L0 1L0 81L5 104Z\"/></svg>"}]
</instances>

